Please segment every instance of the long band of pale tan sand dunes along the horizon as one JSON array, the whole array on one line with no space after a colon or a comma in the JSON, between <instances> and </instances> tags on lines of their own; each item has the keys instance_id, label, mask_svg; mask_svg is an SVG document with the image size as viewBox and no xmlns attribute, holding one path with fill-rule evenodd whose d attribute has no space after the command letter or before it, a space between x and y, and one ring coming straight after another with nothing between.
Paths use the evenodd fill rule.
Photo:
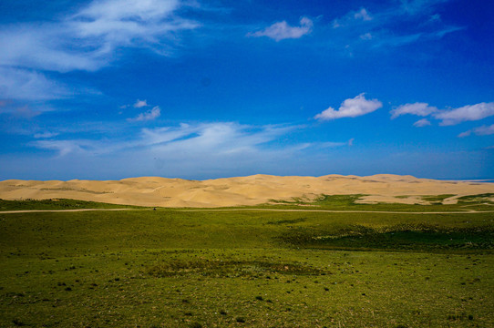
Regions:
<instances>
[{"instance_id":1,"label":"long band of pale tan sand dunes along the horizon","mask_svg":"<svg viewBox=\"0 0 494 328\"><path fill-rule=\"evenodd\" d=\"M420 196L451 194L458 197L494 193L494 183L417 179L412 176L378 174L368 177L249 177L187 180L160 177L121 180L18 180L0 181L0 199L93 200L114 204L163 207L222 207L255 205L293 197L314 199L321 194L363 194L361 202L423 203ZM403 197L407 196L407 197Z\"/></svg>"}]
</instances>

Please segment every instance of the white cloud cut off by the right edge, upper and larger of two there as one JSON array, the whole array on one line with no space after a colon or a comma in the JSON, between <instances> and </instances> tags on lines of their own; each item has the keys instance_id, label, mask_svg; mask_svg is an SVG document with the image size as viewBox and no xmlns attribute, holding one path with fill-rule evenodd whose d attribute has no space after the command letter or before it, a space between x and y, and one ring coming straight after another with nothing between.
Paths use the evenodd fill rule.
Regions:
<instances>
[{"instance_id":1,"label":"white cloud cut off by the right edge, upper and larger of two there","mask_svg":"<svg viewBox=\"0 0 494 328\"><path fill-rule=\"evenodd\" d=\"M451 110L442 110L434 114L434 118L440 119L441 126L457 125L465 121L474 121L494 116L494 102L468 105Z\"/></svg>"}]
</instances>

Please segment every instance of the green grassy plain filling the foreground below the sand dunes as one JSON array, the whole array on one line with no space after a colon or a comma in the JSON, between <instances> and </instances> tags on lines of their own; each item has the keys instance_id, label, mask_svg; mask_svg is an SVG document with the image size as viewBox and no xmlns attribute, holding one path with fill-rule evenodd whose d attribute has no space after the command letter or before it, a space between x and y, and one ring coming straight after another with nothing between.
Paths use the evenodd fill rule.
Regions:
<instances>
[{"instance_id":1,"label":"green grassy plain filling the foreground below the sand dunes","mask_svg":"<svg viewBox=\"0 0 494 328\"><path fill-rule=\"evenodd\" d=\"M0 213L0 326L494 327L485 197L318 201Z\"/></svg>"}]
</instances>

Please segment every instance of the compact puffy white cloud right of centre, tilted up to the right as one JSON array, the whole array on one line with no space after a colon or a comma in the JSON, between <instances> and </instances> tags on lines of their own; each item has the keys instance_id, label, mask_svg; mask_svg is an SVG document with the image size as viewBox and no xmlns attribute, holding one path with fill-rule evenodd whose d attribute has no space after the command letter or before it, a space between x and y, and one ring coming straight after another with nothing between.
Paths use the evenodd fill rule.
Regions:
<instances>
[{"instance_id":1,"label":"compact puffy white cloud right of centre, tilted up to the right","mask_svg":"<svg viewBox=\"0 0 494 328\"><path fill-rule=\"evenodd\" d=\"M376 109L382 107L383 104L379 100L367 100L362 93L354 98L346 99L338 110L334 110L334 108L327 108L322 113L317 114L314 118L321 120L330 120L336 118L356 118L368 113L372 113Z\"/></svg>"}]
</instances>

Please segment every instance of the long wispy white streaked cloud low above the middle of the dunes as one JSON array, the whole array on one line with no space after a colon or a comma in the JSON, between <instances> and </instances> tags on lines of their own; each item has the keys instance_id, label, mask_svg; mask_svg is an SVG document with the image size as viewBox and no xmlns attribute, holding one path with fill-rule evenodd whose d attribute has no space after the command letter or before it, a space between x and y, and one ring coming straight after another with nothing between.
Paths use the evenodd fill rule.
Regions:
<instances>
[{"instance_id":1,"label":"long wispy white streaked cloud low above the middle of the dunes","mask_svg":"<svg viewBox=\"0 0 494 328\"><path fill-rule=\"evenodd\" d=\"M116 154L123 151L152 150L157 156L177 158L207 155L214 157L261 151L260 147L283 136L296 126L247 126L232 122L180 124L178 127L143 128L130 139L51 139L36 140L31 146L57 151L58 156Z\"/></svg>"}]
</instances>

